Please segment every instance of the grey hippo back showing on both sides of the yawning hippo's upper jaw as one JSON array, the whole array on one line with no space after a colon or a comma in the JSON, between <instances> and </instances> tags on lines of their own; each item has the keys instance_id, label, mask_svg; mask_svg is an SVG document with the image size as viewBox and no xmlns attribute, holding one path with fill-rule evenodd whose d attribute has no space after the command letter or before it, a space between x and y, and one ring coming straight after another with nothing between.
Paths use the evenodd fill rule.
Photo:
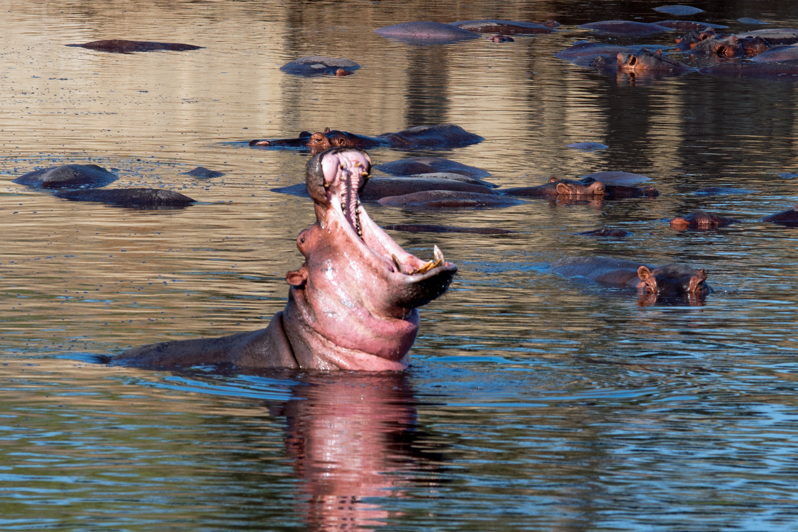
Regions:
<instances>
[{"instance_id":1,"label":"grey hippo back showing on both sides of the yawning hippo's upper jaw","mask_svg":"<svg viewBox=\"0 0 798 532\"><path fill-rule=\"evenodd\" d=\"M459 174L421 174L402 175L401 177L372 177L360 191L360 199L373 201L392 195L412 194L423 191L455 191L477 192L479 194L496 194L493 187L486 187L486 181L472 179ZM297 183L290 187L272 188L273 192L309 196L305 183Z\"/></svg>"}]
</instances>

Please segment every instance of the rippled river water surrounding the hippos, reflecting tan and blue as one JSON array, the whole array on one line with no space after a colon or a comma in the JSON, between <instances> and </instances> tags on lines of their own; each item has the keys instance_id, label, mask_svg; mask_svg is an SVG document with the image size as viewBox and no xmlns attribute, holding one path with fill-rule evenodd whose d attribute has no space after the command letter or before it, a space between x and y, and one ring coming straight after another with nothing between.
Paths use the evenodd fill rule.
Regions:
<instances>
[{"instance_id":1,"label":"rippled river water surrounding the hippos, reflecting tan and blue","mask_svg":"<svg viewBox=\"0 0 798 532\"><path fill-rule=\"evenodd\" d=\"M670 33L575 27L654 22L658 5L4 2L0 529L794 530L798 230L759 220L798 201L780 176L798 170L796 85L606 77L551 56L585 38L669 44ZM733 31L752 29L739 17L798 26L790 2L693 5L708 13L691 18ZM472 18L563 26L505 44L372 33ZM206 48L64 46L113 37ZM311 54L365 68L279 71ZM445 213L367 204L382 224L515 231L392 233L421 257L437 243L460 266L422 309L400 374L98 363L131 345L256 329L285 304L284 275L302 260L294 238L314 217L306 199L270 189L301 182L307 155L223 143L444 121L486 140L373 160L449 157L503 187L634 171L662 195ZM609 148L566 148L581 141ZM200 203L134 211L11 183L67 163ZM180 175L197 165L226 175ZM692 193L709 185L754 192ZM670 229L696 208L744 223ZM598 227L634 235L573 234ZM702 306L646 306L634 291L545 273L591 254L689 262L715 291Z\"/></svg>"}]
</instances>

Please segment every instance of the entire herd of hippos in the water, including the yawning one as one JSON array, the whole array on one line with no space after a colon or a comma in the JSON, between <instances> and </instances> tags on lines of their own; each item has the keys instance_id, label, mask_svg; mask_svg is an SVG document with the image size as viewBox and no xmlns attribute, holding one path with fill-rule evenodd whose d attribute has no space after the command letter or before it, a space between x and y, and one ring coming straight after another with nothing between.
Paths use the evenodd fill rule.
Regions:
<instances>
[{"instance_id":1,"label":"entire herd of hippos in the water, including the yawning one","mask_svg":"<svg viewBox=\"0 0 798 532\"><path fill-rule=\"evenodd\" d=\"M496 33L488 39L512 41L508 33L551 33L558 26L553 21L542 24L502 20L452 24L408 22L380 28L376 33L392 38L440 42L475 38L480 33ZM676 40L681 50L722 57L753 56L754 61L725 61L702 67L702 73L793 73L791 69L798 73L798 46L794 46L798 43L798 30L760 30L724 35L717 30L725 26L690 21L655 24L605 21L580 27L616 34L689 30ZM180 43L122 40L73 46L117 53L199 48ZM652 51L649 48L579 43L555 56L601 70L671 73L695 70L670 59L662 49ZM358 68L354 61L319 56L303 57L282 67L284 71L298 75L326 73L336 76L348 75ZM378 165L376 168L389 176L372 177L371 159L364 151L369 148L456 148L482 140L483 137L456 124L433 124L377 136L326 128L322 132L301 132L296 138L237 143L258 149L302 149L314 154L306 167L305 183L272 189L310 197L316 214L316 223L297 238L298 249L306 260L299 270L286 274L290 289L285 309L275 314L266 329L220 338L144 345L113 357L112 363L147 368L222 364L242 368L401 370L409 365L409 349L417 336L417 307L443 294L457 267L444 259L437 246L433 259L428 262L409 254L385 229L480 234L509 231L488 227L379 227L369 218L361 201L376 201L385 206L416 211L509 207L533 197L611 200L659 195L654 187L634 186L649 178L623 171L596 172L579 179L551 178L549 183L536 187L501 189L482 179L490 175L487 171L431 156ZM602 148L602 145L580 143L571 144L571 147ZM223 175L203 167L184 173L198 179ZM116 203L127 207L185 207L195 203L194 199L175 191L103 188L116 179L118 177L112 171L94 164L67 164L31 171L14 182L57 189L54 195L63 199ZM705 187L696 192L716 195L745 191ZM798 225L798 206L766 216L762 221ZM740 222L711 212L693 211L672 219L670 225L679 230L709 229ZM623 237L630 233L599 229L579 234ZM567 277L588 278L609 286L637 288L642 305L652 304L663 297L686 298L690 304L700 304L705 294L711 291L706 283L705 270L685 264L654 267L614 258L571 257L552 263L549 271Z\"/></svg>"}]
</instances>

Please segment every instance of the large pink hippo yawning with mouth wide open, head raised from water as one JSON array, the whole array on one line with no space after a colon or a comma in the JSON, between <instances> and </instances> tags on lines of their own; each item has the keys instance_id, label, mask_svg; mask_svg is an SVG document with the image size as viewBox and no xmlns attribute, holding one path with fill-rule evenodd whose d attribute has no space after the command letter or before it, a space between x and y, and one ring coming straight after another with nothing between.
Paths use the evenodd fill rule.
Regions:
<instances>
[{"instance_id":1,"label":"large pink hippo yawning with mouth wide open, head raised from water","mask_svg":"<svg viewBox=\"0 0 798 532\"><path fill-rule=\"evenodd\" d=\"M306 167L316 223L305 257L286 274L288 301L266 329L144 345L111 363L139 367L225 364L242 368L397 371L409 365L417 307L443 294L457 271L435 246L425 262L403 250L361 206L366 152L331 148Z\"/></svg>"}]
</instances>

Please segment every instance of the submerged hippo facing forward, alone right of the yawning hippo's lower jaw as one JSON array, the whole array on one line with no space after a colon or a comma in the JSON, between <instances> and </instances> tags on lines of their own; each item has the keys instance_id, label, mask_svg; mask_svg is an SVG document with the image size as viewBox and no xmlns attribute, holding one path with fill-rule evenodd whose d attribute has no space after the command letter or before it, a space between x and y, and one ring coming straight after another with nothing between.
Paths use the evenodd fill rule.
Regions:
<instances>
[{"instance_id":1,"label":"submerged hippo facing forward, alone right of the yawning hippo's lower jaw","mask_svg":"<svg viewBox=\"0 0 798 532\"><path fill-rule=\"evenodd\" d=\"M705 270L681 263L652 267L618 258L568 257L553 262L549 271L602 285L637 288L642 294L703 296L712 290Z\"/></svg>"}]
</instances>

